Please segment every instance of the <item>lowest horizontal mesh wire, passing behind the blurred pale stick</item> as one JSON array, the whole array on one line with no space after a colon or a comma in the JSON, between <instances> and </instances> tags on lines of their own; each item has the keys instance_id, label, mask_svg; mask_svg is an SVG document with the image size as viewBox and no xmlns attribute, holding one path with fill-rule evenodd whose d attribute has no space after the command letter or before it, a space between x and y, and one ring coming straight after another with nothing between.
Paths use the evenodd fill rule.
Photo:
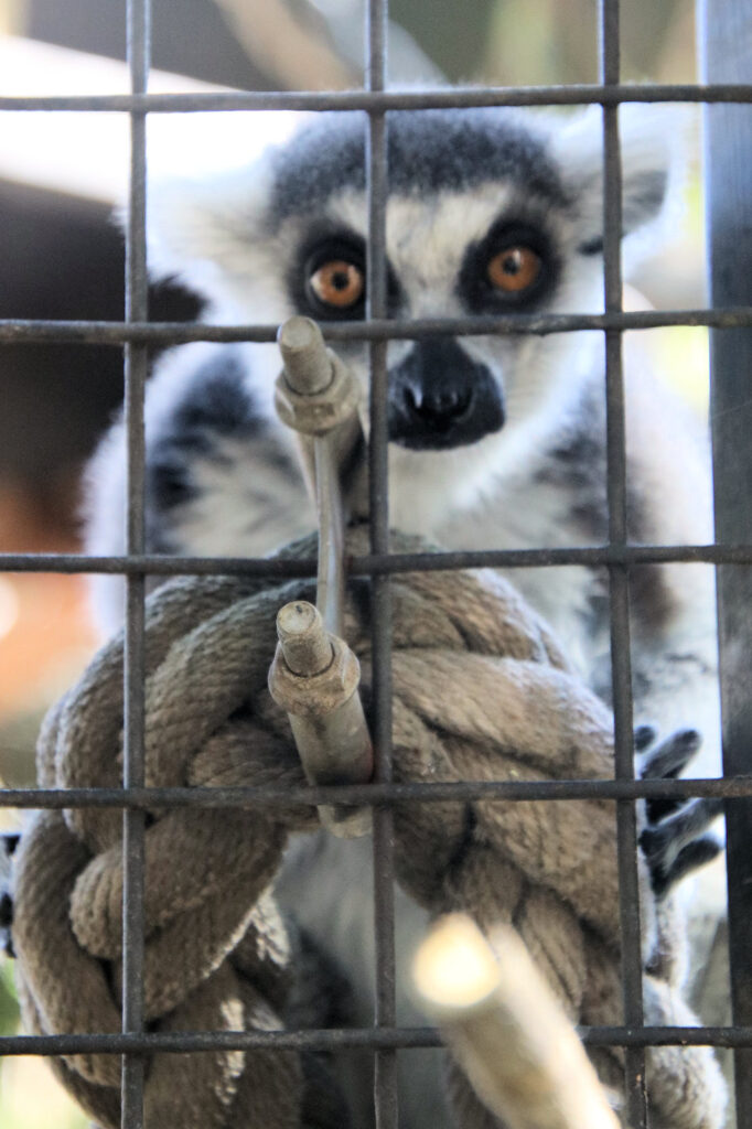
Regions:
<instances>
[{"instance_id":1,"label":"lowest horizontal mesh wire, passing behind the blurred pale stick","mask_svg":"<svg viewBox=\"0 0 752 1129\"><path fill-rule=\"evenodd\" d=\"M752 1047L752 1026L578 1027L587 1047ZM440 1047L432 1027L333 1027L312 1031L181 1031L139 1034L3 1035L0 1056L191 1053L216 1050L416 1050Z\"/></svg>"}]
</instances>

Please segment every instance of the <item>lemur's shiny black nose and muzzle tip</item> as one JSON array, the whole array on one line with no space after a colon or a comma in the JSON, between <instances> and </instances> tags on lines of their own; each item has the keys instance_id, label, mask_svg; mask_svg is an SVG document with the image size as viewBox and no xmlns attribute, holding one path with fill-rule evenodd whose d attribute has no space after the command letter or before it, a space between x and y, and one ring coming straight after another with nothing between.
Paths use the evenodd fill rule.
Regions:
<instances>
[{"instance_id":1,"label":"lemur's shiny black nose and muzzle tip","mask_svg":"<svg viewBox=\"0 0 752 1129\"><path fill-rule=\"evenodd\" d=\"M403 447L461 447L502 423L499 385L456 341L419 342L390 371L390 438Z\"/></svg>"}]
</instances>

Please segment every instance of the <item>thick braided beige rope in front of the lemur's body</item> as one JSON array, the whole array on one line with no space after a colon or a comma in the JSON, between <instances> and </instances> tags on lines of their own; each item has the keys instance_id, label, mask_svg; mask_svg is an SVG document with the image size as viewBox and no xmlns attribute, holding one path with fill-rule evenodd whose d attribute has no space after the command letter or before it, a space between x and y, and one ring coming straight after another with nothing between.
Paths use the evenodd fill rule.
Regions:
<instances>
[{"instance_id":1,"label":"thick braided beige rope in front of the lemur's body","mask_svg":"<svg viewBox=\"0 0 752 1129\"><path fill-rule=\"evenodd\" d=\"M353 534L362 551L364 532ZM395 548L414 542L395 539ZM286 554L308 555L312 541ZM490 572L395 578L394 755L404 781L539 780L612 776L612 725L548 630ZM304 782L287 718L266 690L274 616L311 596L306 583L181 579L147 610L147 782L158 786ZM346 634L369 683L367 587L355 584ZM47 787L119 786L122 639L93 660L45 720ZM511 922L572 1021L621 1019L614 808L607 802L397 806L404 889L432 913L463 909L491 929ZM14 942L27 1030L120 1030L121 815L44 812L15 856ZM150 1030L281 1027L296 962L270 892L290 831L314 809L150 813L146 866L145 1006ZM671 980L676 930L656 920L644 883L646 1022L693 1023ZM670 939L671 934L671 939ZM620 1086L620 1054L594 1056ZM299 1129L338 1123L336 1104L292 1052L155 1054L146 1084L156 1129ZM78 1054L56 1070L99 1126L120 1124L120 1061ZM497 1122L456 1070L462 1129ZM315 1088L315 1087L314 1087ZM653 1124L719 1129L723 1083L703 1048L648 1056ZM329 1105L329 1120L325 1110ZM318 1110L318 1113L315 1110ZM314 1112L312 1113L312 1110Z\"/></svg>"}]
</instances>

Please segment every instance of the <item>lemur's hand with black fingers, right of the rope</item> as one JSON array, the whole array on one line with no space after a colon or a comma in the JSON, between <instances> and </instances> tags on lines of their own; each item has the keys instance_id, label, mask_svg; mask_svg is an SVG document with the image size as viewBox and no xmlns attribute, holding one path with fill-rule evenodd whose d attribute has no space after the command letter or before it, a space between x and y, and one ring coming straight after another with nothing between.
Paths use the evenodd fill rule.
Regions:
<instances>
[{"instance_id":1,"label":"lemur's hand with black fingers, right of the rope","mask_svg":"<svg viewBox=\"0 0 752 1129\"><path fill-rule=\"evenodd\" d=\"M640 755L639 774L644 780L675 779L689 764L701 744L697 729L677 729L664 741L652 725L635 729L635 751ZM644 754L644 755L642 755ZM723 842L714 832L712 821L723 814L723 800L647 799L647 824L640 835L650 883L656 898L665 898L681 878L711 861Z\"/></svg>"}]
</instances>

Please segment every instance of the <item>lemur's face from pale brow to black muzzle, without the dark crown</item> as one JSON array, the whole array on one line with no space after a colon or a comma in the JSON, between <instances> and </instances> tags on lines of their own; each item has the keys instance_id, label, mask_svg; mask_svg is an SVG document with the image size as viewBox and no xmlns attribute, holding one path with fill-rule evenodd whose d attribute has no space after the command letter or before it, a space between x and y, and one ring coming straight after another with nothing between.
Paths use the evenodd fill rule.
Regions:
<instances>
[{"instance_id":1,"label":"lemur's face from pale brow to black muzzle, without the dark crown","mask_svg":"<svg viewBox=\"0 0 752 1129\"><path fill-rule=\"evenodd\" d=\"M399 318L532 312L553 306L561 283L561 233L509 183L395 194L386 219L387 313ZM559 229L561 225L558 226ZM357 321L366 306L366 208L346 190L300 225L287 273L298 313ZM511 425L515 375L535 379L522 336L435 338L388 347L390 438L410 450L467 447ZM527 351L527 361L523 355ZM344 350L367 384L367 353Z\"/></svg>"}]
</instances>

